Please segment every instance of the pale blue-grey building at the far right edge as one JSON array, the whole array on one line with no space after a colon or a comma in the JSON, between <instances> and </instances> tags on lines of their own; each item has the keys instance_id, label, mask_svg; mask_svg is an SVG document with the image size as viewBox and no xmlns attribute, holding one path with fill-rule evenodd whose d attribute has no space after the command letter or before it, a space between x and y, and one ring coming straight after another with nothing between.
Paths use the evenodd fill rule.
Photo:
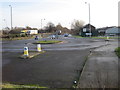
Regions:
<instances>
[{"instance_id":1,"label":"pale blue-grey building at the far right edge","mask_svg":"<svg viewBox=\"0 0 120 90\"><path fill-rule=\"evenodd\" d=\"M118 27L112 27L105 31L106 36L118 36L120 35L120 28Z\"/></svg>"}]
</instances>

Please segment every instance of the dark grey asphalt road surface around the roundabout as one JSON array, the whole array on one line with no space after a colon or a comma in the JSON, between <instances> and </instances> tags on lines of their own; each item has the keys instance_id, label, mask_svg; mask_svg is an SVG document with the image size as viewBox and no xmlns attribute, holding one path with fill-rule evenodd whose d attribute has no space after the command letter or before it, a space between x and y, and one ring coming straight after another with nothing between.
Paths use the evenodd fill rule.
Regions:
<instances>
[{"instance_id":1,"label":"dark grey asphalt road surface around the roundabout","mask_svg":"<svg viewBox=\"0 0 120 90\"><path fill-rule=\"evenodd\" d=\"M47 40L47 39L46 39ZM2 79L15 84L38 84L49 88L70 88L79 77L86 56L105 44L103 39L60 38L61 44L42 45L46 53L32 59L20 59L23 47L36 50L34 39L3 41Z\"/></svg>"}]
</instances>

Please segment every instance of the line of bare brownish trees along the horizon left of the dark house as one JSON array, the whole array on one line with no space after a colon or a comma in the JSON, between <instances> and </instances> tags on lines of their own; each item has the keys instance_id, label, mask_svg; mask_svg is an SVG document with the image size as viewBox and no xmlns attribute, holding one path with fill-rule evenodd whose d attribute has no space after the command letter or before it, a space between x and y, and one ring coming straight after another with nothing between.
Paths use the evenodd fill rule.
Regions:
<instances>
[{"instance_id":1,"label":"line of bare brownish trees along the horizon left of the dark house","mask_svg":"<svg viewBox=\"0 0 120 90\"><path fill-rule=\"evenodd\" d=\"M30 26L24 27L14 27L12 30L10 28L6 27L4 30L2 30L2 34L19 34L22 30L38 30L39 33L54 33L57 30L61 30L62 34L64 33L70 33L73 35L78 35L80 30L82 29L84 25L84 21L81 20L74 20L71 23L71 29L68 29L67 27L63 27L60 23L58 25L55 25L52 22L48 22L47 25L44 27L44 29L38 29L38 28L32 28Z\"/></svg>"}]
</instances>

